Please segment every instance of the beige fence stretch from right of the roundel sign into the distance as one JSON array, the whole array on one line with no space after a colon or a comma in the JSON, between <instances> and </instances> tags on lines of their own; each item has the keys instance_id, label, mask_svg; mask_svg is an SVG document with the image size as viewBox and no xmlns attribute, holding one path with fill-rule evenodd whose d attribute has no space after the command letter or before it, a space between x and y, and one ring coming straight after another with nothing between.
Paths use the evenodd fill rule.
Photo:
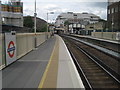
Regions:
<instances>
[{"instance_id":1,"label":"beige fence stretch from right of the roundel sign into the distance","mask_svg":"<svg viewBox=\"0 0 120 90\"><path fill-rule=\"evenodd\" d=\"M37 46L41 45L47 40L47 35L46 33L37 33ZM35 47L35 36L34 33L19 33L16 35L17 36L17 59L22 57L23 55L27 54L31 50L34 49Z\"/></svg>"}]
</instances>

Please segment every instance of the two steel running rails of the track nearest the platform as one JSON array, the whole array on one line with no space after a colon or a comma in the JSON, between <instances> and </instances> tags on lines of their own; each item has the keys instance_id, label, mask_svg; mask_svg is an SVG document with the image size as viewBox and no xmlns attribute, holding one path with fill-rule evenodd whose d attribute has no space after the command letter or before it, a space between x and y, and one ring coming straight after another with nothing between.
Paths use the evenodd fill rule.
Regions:
<instances>
[{"instance_id":1,"label":"two steel running rails of the track nearest the platform","mask_svg":"<svg viewBox=\"0 0 120 90\"><path fill-rule=\"evenodd\" d=\"M68 38L68 37L67 37ZM74 43L74 42L72 42ZM101 60L99 60L97 57L95 57L94 55L90 54L89 52L85 51L83 48L81 48L78 43L74 43L75 44L75 47L80 50L83 54L85 54L90 60L92 60L94 63L96 63L97 66L99 66L103 71L105 71L107 73L107 75L109 75L115 82L117 82L118 84L120 84L120 80L119 78L116 78L113 74L111 73L114 73L112 72L111 70L108 70L109 68L107 67L106 69L106 66L103 65L103 63L101 62ZM82 77L84 77L84 80L85 80L85 83L87 83L87 86L89 86L89 88L92 89L92 85L90 84L89 80L87 79L84 71L82 70L82 68L80 67L79 63L77 62L77 59L75 58L74 54L72 53L71 50L69 50L70 53L71 53L71 56L75 62L75 65L80 73L80 75L82 74Z\"/></svg>"}]
</instances>

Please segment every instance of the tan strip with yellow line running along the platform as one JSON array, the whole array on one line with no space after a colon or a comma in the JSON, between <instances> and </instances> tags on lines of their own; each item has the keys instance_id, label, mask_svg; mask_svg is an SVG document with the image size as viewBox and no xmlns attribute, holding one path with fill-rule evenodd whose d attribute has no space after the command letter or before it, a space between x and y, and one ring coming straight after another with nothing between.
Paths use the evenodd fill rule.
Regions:
<instances>
[{"instance_id":1,"label":"tan strip with yellow line running along the platform","mask_svg":"<svg viewBox=\"0 0 120 90\"><path fill-rule=\"evenodd\" d=\"M56 43L38 88L56 88L59 59L59 38Z\"/></svg>"}]
</instances>

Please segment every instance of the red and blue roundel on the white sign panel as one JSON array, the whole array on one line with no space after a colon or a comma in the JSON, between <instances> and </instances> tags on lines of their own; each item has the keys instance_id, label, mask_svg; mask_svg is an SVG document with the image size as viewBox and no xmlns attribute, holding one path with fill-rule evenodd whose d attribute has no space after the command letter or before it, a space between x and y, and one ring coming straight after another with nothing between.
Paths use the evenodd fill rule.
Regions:
<instances>
[{"instance_id":1,"label":"red and blue roundel on the white sign panel","mask_svg":"<svg viewBox=\"0 0 120 90\"><path fill-rule=\"evenodd\" d=\"M15 53L15 45L13 41L10 41L8 44L8 49L7 49L7 53L9 55L10 58L14 57L14 53Z\"/></svg>"}]
</instances>

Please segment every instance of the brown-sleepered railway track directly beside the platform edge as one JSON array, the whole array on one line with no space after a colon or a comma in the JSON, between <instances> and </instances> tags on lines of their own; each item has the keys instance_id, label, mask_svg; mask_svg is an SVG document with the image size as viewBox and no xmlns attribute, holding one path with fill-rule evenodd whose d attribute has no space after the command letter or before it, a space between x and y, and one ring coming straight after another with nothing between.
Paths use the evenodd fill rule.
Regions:
<instances>
[{"instance_id":1,"label":"brown-sleepered railway track directly beside the platform edge","mask_svg":"<svg viewBox=\"0 0 120 90\"><path fill-rule=\"evenodd\" d=\"M119 89L119 79L111 74L113 72L105 67L100 59L84 50L79 42L65 36L63 39L87 89Z\"/></svg>"}]
</instances>

